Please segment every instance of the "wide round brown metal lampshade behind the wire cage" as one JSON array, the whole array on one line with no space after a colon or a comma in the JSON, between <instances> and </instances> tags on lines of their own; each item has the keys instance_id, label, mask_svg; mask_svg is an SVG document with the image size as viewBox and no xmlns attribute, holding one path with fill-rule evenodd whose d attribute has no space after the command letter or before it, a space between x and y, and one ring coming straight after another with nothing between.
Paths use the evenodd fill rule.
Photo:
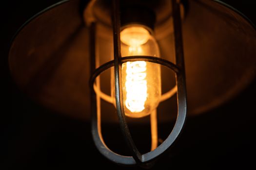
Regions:
<instances>
[{"instance_id":1,"label":"wide round brown metal lampshade behind the wire cage","mask_svg":"<svg viewBox=\"0 0 256 170\"><path fill-rule=\"evenodd\" d=\"M82 4L87 2L64 0L27 21L13 39L9 66L17 85L31 98L58 113L89 120L90 44ZM255 78L256 30L220 1L189 0L188 6L182 27L188 116L193 116L227 102ZM160 36L156 31L156 38L161 57L174 62L172 32ZM113 38L98 43L103 47L99 55L106 56L103 64L113 58L106 52L113 49ZM175 84L164 70L161 79ZM161 107L169 111L175 105ZM174 117L163 112L159 121ZM115 114L102 119L117 121Z\"/></svg>"}]
</instances>

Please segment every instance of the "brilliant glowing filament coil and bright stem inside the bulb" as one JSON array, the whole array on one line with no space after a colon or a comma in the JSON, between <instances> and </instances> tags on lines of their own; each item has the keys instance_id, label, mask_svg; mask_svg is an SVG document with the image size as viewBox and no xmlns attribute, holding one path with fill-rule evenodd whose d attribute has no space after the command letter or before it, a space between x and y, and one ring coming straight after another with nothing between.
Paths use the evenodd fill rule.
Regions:
<instances>
[{"instance_id":1,"label":"brilliant glowing filament coil and bright stem inside the bulb","mask_svg":"<svg viewBox=\"0 0 256 170\"><path fill-rule=\"evenodd\" d=\"M149 39L149 32L143 27L129 27L120 33L121 42L128 45L127 55L143 55L141 48ZM145 61L127 62L125 106L133 113L145 109L147 100L147 64Z\"/></svg>"}]
</instances>

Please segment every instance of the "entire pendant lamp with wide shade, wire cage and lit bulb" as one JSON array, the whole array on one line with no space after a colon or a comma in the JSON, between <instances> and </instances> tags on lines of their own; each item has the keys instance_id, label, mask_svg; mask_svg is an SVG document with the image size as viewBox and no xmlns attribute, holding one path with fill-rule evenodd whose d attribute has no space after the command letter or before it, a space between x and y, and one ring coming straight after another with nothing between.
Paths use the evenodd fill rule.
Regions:
<instances>
[{"instance_id":1,"label":"entire pendant lamp with wide shade, wire cage and lit bulb","mask_svg":"<svg viewBox=\"0 0 256 170\"><path fill-rule=\"evenodd\" d=\"M149 168L176 141L187 112L210 110L255 78L255 47L254 25L218 0L63 0L20 28L9 66L20 88L43 106L86 120L91 115L94 143L110 161ZM104 116L102 105L116 111ZM177 108L176 122L158 144L158 121L174 119L170 108ZM103 140L101 119L116 123L113 117L129 156ZM151 151L140 153L127 119L145 117Z\"/></svg>"}]
</instances>

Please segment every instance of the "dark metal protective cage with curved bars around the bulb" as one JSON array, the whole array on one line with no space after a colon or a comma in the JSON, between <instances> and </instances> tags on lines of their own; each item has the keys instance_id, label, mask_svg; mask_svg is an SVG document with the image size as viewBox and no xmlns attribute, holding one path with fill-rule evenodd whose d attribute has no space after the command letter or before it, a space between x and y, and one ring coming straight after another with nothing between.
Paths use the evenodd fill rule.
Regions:
<instances>
[{"instance_id":1,"label":"dark metal protective cage with curved bars around the bulb","mask_svg":"<svg viewBox=\"0 0 256 170\"><path fill-rule=\"evenodd\" d=\"M152 56L129 56L121 57L120 53L120 16L119 16L119 0L113 0L112 9L112 22L113 22L113 38L114 38L114 60L103 64L102 66L95 69L95 45L92 48L94 51L91 52L91 112L92 112L92 135L96 147L99 152L103 154L109 160L122 165L138 165L143 168L148 168L153 165L153 161L162 153L164 153L177 139L180 134L182 127L186 119L187 103L186 103L186 85L185 85L185 69L184 69L184 58L183 58L183 46L182 46L182 34L181 34L181 23L180 23L180 9L179 3L176 0L172 0L173 6L173 23L174 23L174 40L175 40L175 53L176 53L176 65L167 60L152 57ZM95 28L92 28L95 29ZM95 42L95 30L92 30L91 34L92 42ZM172 69L176 73L176 85L177 85L177 108L178 114L176 123L170 135L161 143L155 150L141 154L139 153L130 130L128 128L122 98L122 74L121 66L122 63L128 61L147 61L163 65L167 68ZM116 94L116 106L120 128L124 139L129 147L132 156L123 156L111 151L104 143L101 136L100 129L100 114L97 113L97 102L96 93L94 91L94 82L97 76L104 70L113 67L115 71L115 94Z\"/></svg>"}]
</instances>

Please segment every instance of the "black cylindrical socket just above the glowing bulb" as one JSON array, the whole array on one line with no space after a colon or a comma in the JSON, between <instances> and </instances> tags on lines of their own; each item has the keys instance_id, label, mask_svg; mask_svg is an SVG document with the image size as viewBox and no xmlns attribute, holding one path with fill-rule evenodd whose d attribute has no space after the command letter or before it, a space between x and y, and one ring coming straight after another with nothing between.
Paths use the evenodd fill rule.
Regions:
<instances>
[{"instance_id":1,"label":"black cylindrical socket just above the glowing bulb","mask_svg":"<svg viewBox=\"0 0 256 170\"><path fill-rule=\"evenodd\" d=\"M156 14L152 9L146 7L123 6L120 10L120 22L122 28L127 25L144 25L153 31Z\"/></svg>"}]
</instances>

